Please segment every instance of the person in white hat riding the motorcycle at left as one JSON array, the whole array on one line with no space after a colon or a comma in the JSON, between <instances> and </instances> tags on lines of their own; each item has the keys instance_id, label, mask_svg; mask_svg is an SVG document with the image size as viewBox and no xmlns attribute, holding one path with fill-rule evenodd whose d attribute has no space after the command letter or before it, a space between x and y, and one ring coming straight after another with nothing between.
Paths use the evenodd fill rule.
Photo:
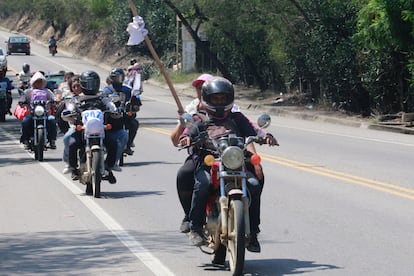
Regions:
<instances>
[{"instance_id":1,"label":"person in white hat riding the motorcycle at left","mask_svg":"<svg viewBox=\"0 0 414 276\"><path fill-rule=\"evenodd\" d=\"M19 100L19 104L27 104L30 110L33 110L34 101L42 100L46 102L46 110L51 110L55 103L55 96L52 91L46 88L46 78L41 72L36 72L30 79L30 86L24 91ZM25 149L29 148L29 138L33 134L33 114L30 113L22 121L22 136L20 142L24 144ZM47 139L48 147L56 149L57 128L54 116L49 116L47 120Z\"/></svg>"}]
</instances>

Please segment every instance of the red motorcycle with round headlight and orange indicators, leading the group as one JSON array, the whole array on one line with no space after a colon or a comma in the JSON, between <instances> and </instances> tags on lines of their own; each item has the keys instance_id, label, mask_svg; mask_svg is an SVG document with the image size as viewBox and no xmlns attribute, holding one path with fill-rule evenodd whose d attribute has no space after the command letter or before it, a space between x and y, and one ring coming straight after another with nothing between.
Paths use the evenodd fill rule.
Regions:
<instances>
[{"instance_id":1,"label":"red motorcycle with round headlight and orange indicators, leading the group","mask_svg":"<svg viewBox=\"0 0 414 276\"><path fill-rule=\"evenodd\" d=\"M269 115L262 114L258 126L266 128L270 120ZM182 115L180 122L186 127L194 125L189 114ZM233 275L243 273L245 249L250 239L246 162L260 163L259 155L247 154L246 147L253 142L263 144L265 140L259 135L243 138L235 134L213 139L208 137L207 131L201 130L192 142L193 147L207 153L203 161L211 168L212 181L203 229L207 244L200 246L200 250L210 255L223 254L227 250Z\"/></svg>"}]
</instances>

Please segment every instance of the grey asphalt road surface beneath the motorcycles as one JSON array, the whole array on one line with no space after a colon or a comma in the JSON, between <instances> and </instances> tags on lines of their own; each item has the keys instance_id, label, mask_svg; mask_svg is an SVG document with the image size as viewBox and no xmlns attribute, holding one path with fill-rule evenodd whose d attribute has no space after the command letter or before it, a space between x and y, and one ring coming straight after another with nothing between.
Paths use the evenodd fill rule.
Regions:
<instances>
[{"instance_id":1,"label":"grey asphalt road surface beneath the motorcycles","mask_svg":"<svg viewBox=\"0 0 414 276\"><path fill-rule=\"evenodd\" d=\"M9 56L9 68L109 73L32 49ZM178 231L175 174L185 152L169 140L177 108L160 87L146 85L142 97L135 154L117 184L103 183L100 199L61 173L61 136L36 162L18 142L19 122L0 125L1 275L230 274ZM246 110L252 119L259 112ZM262 253L246 253L245 275L412 275L413 137L278 116L269 131L280 147L259 148Z\"/></svg>"}]
</instances>

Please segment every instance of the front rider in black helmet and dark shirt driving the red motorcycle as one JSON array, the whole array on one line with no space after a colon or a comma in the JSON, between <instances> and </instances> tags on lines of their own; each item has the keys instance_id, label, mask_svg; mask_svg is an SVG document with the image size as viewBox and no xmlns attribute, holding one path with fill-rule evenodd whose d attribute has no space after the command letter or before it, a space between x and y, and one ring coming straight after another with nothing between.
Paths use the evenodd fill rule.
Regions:
<instances>
[{"instance_id":1,"label":"front rider in black helmet and dark shirt driving the red motorcycle","mask_svg":"<svg viewBox=\"0 0 414 276\"><path fill-rule=\"evenodd\" d=\"M222 77L213 77L208 79L202 86L202 103L208 114L207 131L209 136L225 134L228 132L237 133L238 136L248 137L256 136L257 131L242 113L231 112L234 102L234 87L231 82ZM180 137L181 146L191 145L191 139L199 133L195 125L186 129ZM269 146L278 145L277 140L270 133L266 133L264 139ZM252 154L256 152L254 145L249 144L247 150ZM199 153L202 154L202 153ZM198 158L195 170L195 185L193 191L193 198L190 210L190 244L200 246L205 243L204 235L202 233L203 225L205 223L205 206L209 196L210 186L210 168L204 165ZM260 166L260 165L256 165ZM247 250L251 252L260 252L260 243L257 240L260 224L260 195L263 188L261 168L255 168L250 163L246 164L248 169L248 188L251 195L251 205L249 207L250 213L250 243L247 245ZM259 179L261 178L261 179Z\"/></svg>"}]
</instances>

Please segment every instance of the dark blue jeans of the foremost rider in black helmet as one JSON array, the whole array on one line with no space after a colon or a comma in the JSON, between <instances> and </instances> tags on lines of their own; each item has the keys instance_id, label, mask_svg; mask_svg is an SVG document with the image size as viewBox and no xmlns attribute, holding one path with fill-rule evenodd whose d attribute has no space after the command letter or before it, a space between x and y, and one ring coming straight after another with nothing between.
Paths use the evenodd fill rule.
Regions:
<instances>
[{"instance_id":1,"label":"dark blue jeans of the foremost rider in black helmet","mask_svg":"<svg viewBox=\"0 0 414 276\"><path fill-rule=\"evenodd\" d=\"M206 221L206 204L210 194L210 168L200 166L195 172L195 183L190 210L191 230L201 230ZM260 223L260 195L262 185L253 172L247 171L247 188L250 192L250 232L259 232Z\"/></svg>"}]
</instances>

